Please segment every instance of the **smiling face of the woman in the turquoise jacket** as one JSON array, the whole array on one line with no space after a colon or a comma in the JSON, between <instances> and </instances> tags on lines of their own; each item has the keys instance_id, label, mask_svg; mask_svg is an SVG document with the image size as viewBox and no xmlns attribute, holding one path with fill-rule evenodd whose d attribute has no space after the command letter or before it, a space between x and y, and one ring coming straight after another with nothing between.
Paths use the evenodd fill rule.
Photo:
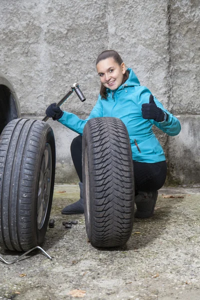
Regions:
<instances>
[{"instance_id":1,"label":"smiling face of the woman in the turquoise jacket","mask_svg":"<svg viewBox=\"0 0 200 300\"><path fill-rule=\"evenodd\" d=\"M96 70L100 76L101 83L114 90L118 88L123 81L123 74L125 73L125 65L122 62L121 65L118 65L112 57L100 60L96 64Z\"/></svg>"}]
</instances>

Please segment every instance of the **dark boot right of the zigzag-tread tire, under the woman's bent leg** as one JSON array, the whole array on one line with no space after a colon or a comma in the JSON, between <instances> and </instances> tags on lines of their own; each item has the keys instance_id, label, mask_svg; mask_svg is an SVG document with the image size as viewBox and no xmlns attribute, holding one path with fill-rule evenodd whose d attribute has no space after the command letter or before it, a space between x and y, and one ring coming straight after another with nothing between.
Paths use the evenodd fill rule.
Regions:
<instances>
[{"instance_id":1,"label":"dark boot right of the zigzag-tread tire, under the woman's bent leg","mask_svg":"<svg viewBox=\"0 0 200 300\"><path fill-rule=\"evenodd\" d=\"M134 217L145 218L153 215L155 203L157 200L157 190L150 192L139 192L135 197L137 210Z\"/></svg>"}]
</instances>

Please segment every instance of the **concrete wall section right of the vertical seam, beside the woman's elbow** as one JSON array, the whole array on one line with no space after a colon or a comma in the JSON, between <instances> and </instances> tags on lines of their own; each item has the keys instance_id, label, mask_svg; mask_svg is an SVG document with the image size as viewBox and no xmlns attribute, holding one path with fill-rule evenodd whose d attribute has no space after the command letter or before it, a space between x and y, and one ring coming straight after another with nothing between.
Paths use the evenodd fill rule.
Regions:
<instances>
[{"instance_id":1,"label":"concrete wall section right of the vertical seam, beside the woman's elbow","mask_svg":"<svg viewBox=\"0 0 200 300\"><path fill-rule=\"evenodd\" d=\"M200 2L171 0L169 6L171 91L169 109L182 130L168 138L169 182L200 183Z\"/></svg>"}]
</instances>

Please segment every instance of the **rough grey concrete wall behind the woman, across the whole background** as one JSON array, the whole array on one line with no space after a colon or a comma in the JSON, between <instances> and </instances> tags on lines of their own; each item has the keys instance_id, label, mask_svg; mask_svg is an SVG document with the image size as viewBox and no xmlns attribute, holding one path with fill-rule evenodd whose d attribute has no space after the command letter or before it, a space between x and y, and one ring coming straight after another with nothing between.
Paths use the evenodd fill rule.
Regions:
<instances>
[{"instance_id":1,"label":"rough grey concrete wall behind the woman, across the whole background","mask_svg":"<svg viewBox=\"0 0 200 300\"><path fill-rule=\"evenodd\" d=\"M23 116L41 119L49 103L79 82L86 101L74 94L63 109L85 118L100 86L95 59L104 49L117 50L140 83L179 115L180 135L158 134L168 183L199 184L199 13L198 0L1 0L1 71L16 89ZM76 181L69 152L76 133L49 123L56 182Z\"/></svg>"}]
</instances>

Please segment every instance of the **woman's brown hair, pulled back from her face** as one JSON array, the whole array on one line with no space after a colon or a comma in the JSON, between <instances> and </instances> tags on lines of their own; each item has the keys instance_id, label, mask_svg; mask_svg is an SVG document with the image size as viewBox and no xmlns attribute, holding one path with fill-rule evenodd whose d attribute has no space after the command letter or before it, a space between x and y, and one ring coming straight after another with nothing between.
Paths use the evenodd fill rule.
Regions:
<instances>
[{"instance_id":1,"label":"woman's brown hair, pulled back from her face","mask_svg":"<svg viewBox=\"0 0 200 300\"><path fill-rule=\"evenodd\" d=\"M123 62L123 60L121 59L121 56L114 50L105 50L105 51L102 51L97 59L96 59L96 64L100 61L100 60L103 60L103 59L106 59L106 58L109 58L109 57L112 57L114 59L114 61L116 63L118 63L118 65L121 65L121 63ZM123 80L121 82L121 84L123 84L127 78L129 76L129 73L127 70L125 70L125 73L123 74ZM101 95L101 99L106 99L107 98L107 90L106 90L106 87L101 83L100 85L100 95Z\"/></svg>"}]
</instances>

